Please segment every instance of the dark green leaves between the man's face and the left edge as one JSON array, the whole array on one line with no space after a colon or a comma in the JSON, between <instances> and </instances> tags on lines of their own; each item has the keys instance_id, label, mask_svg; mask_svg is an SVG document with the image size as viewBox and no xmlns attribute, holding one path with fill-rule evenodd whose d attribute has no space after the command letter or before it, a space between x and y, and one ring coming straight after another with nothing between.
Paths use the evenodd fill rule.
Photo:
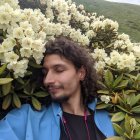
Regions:
<instances>
[{"instance_id":1,"label":"dark green leaves between the man's face and the left edge","mask_svg":"<svg viewBox=\"0 0 140 140\"><path fill-rule=\"evenodd\" d=\"M32 74L29 74L33 69ZM30 63L29 71L24 78L12 79L12 72L5 73L6 64L0 67L0 98L2 98L1 109L7 110L9 107L20 108L23 103L31 103L35 109L41 109L41 100L46 98L48 93L37 79L41 76L42 66ZM7 75L7 76L6 76ZM2 78L7 77L7 78ZM33 80L34 79L34 80ZM38 83L39 82L39 83Z\"/></svg>"}]
</instances>

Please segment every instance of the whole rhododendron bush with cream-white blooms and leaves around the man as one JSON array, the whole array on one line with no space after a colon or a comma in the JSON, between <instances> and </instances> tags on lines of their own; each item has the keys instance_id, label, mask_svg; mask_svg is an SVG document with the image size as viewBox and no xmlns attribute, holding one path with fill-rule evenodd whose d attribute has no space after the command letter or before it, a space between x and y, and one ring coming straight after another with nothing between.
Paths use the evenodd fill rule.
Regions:
<instances>
[{"instance_id":1,"label":"whole rhododendron bush with cream-white blooms and leaves around the man","mask_svg":"<svg viewBox=\"0 0 140 140\"><path fill-rule=\"evenodd\" d=\"M140 139L140 44L118 33L116 21L88 13L68 0L47 0L46 11L21 9L18 0L0 1L0 108L30 103L37 110L48 94L40 74L44 45L67 36L90 49L101 81L97 109L110 112L118 136Z\"/></svg>"}]
</instances>

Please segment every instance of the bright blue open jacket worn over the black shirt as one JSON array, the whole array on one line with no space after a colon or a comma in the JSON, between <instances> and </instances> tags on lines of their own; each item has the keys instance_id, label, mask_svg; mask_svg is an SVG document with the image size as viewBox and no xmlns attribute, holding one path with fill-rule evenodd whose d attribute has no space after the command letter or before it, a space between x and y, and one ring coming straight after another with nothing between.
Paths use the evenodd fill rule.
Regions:
<instances>
[{"instance_id":1,"label":"bright blue open jacket worn over the black shirt","mask_svg":"<svg viewBox=\"0 0 140 140\"><path fill-rule=\"evenodd\" d=\"M95 102L88 105L95 110ZM14 109L0 121L0 140L60 140L60 119L62 110L59 104L52 103L41 111L29 104ZM95 123L106 136L114 136L114 129L108 113L95 111Z\"/></svg>"}]
</instances>

